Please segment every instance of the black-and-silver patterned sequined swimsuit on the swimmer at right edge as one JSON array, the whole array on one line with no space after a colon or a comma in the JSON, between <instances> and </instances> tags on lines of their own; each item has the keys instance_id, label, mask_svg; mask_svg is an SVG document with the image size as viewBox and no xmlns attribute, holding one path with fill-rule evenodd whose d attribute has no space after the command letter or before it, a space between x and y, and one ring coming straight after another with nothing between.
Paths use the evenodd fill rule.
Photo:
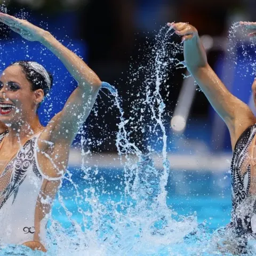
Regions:
<instances>
[{"instance_id":1,"label":"black-and-silver patterned sequined swimsuit on the swimmer at right edge","mask_svg":"<svg viewBox=\"0 0 256 256\"><path fill-rule=\"evenodd\" d=\"M246 158L250 157L249 148L256 134L256 124L248 127L236 142L231 161L231 225L239 233L256 234L256 195L251 195L251 164L242 173ZM247 161L247 160L246 160Z\"/></svg>"}]
</instances>

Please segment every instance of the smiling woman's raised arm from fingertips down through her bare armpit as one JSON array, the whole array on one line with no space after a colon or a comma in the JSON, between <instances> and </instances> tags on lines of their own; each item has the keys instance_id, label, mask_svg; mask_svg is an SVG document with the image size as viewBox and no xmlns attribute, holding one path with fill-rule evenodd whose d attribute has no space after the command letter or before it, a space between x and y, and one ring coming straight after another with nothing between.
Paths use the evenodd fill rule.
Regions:
<instances>
[{"instance_id":1,"label":"smiling woman's raised arm from fingertips down through her bare armpit","mask_svg":"<svg viewBox=\"0 0 256 256\"><path fill-rule=\"evenodd\" d=\"M81 58L58 42L48 31L4 13L0 13L0 21L23 38L38 41L46 46L62 61L78 82L77 88L68 98L62 111L52 118L38 139L39 166L41 164L44 166L43 169L47 171L45 174L48 177L57 178L63 174L63 170L66 170L70 145L90 114L101 87L101 81ZM54 162L55 170L52 167L48 168L47 162L49 166Z\"/></svg>"}]
</instances>

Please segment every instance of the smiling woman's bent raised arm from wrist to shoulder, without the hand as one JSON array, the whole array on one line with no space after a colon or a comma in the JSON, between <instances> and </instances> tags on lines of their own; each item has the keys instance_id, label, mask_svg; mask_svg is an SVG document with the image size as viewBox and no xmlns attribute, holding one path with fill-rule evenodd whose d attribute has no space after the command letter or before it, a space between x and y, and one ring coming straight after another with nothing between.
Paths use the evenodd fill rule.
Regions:
<instances>
[{"instance_id":1,"label":"smiling woman's bent raised arm from wrist to shoulder, without the hand","mask_svg":"<svg viewBox=\"0 0 256 256\"><path fill-rule=\"evenodd\" d=\"M51 141L61 142L62 145L67 143L70 146L90 114L101 81L81 58L58 42L49 32L43 34L39 42L62 61L78 83L78 87L70 95L62 111L49 124Z\"/></svg>"}]
</instances>

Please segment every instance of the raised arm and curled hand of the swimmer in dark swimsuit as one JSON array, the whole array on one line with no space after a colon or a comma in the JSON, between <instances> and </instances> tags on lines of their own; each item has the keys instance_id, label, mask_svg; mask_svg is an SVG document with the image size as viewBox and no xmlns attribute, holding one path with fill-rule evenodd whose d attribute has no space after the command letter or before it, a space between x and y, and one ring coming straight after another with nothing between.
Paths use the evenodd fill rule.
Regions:
<instances>
[{"instance_id":1,"label":"raised arm and curled hand of the swimmer in dark swimsuit","mask_svg":"<svg viewBox=\"0 0 256 256\"><path fill-rule=\"evenodd\" d=\"M168 23L175 33L182 36L184 58L188 71L202 89L212 107L228 126L231 144L243 131L255 123L250 108L231 94L207 62L206 52L195 27L188 23Z\"/></svg>"}]
</instances>

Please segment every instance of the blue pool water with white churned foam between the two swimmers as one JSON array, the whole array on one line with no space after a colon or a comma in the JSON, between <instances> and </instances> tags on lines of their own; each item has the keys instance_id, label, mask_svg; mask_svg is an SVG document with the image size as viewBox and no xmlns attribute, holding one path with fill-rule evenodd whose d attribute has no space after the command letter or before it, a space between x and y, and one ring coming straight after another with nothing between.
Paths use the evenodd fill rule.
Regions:
<instances>
[{"instance_id":1,"label":"blue pool water with white churned foam between the two swimmers","mask_svg":"<svg viewBox=\"0 0 256 256\"><path fill-rule=\"evenodd\" d=\"M59 193L63 197L63 201L58 198L52 210L53 220L57 220L65 230L71 230L69 234L64 231L66 238L70 234L71 236L82 234L83 237L77 239L77 247L79 248L81 243L84 243L84 254L79 252L77 255L96 253L95 247L90 251L90 244L94 243L91 240L88 241L91 239L90 235L94 236L93 241L98 240L98 247L96 246L98 249L99 246L103 247L103 251L98 252L97 255L199 255L196 254L197 249L193 249L193 253L189 252L190 247L184 249L186 246L182 245L183 238L200 226L203 227L203 236L205 236L205 233L212 234L214 230L226 226L230 222L230 178L227 173L171 171L166 197L167 207L170 211L164 207L162 209L161 205L149 206L149 212L146 214L143 206L142 211L140 208L131 211L131 209L136 209L136 202L130 196L126 198L123 196L124 183L122 183L123 172L121 169L102 168L97 169L96 172L92 169L91 172L91 176L86 175L86 179L84 179L83 171L69 168L72 181L63 181ZM155 213L158 209L160 215ZM161 217L158 219L159 216ZM151 219L154 219L153 226L155 228L152 232L151 227L143 227L145 225L143 222L147 223ZM80 231L74 231L76 224L72 221L75 221L81 228L80 235L78 234ZM173 225L171 229L170 223ZM145 232L143 232L143 228ZM168 231L169 229L170 231ZM58 232L56 234L59 234ZM151 240L152 237L143 238L146 240L139 239L139 236L143 237L141 234L150 232L157 233L155 237L152 236L153 240ZM174 233L174 235L168 233ZM177 234L177 240L173 239L175 234ZM199 234L199 237L201 236L202 234ZM173 241L169 243L169 239L173 239ZM198 238L196 239L198 240ZM127 241L132 242L128 243ZM146 250L145 246L153 241L156 245L152 245L150 250ZM70 243L68 239L67 243ZM192 244L197 246L194 242ZM178 247L175 248L175 246ZM167 249L165 250L165 248ZM69 247L66 250L69 251ZM74 250L71 251L66 255L76 255ZM65 255L62 253L63 251L57 254ZM211 254L206 253L205 255Z\"/></svg>"}]
</instances>

